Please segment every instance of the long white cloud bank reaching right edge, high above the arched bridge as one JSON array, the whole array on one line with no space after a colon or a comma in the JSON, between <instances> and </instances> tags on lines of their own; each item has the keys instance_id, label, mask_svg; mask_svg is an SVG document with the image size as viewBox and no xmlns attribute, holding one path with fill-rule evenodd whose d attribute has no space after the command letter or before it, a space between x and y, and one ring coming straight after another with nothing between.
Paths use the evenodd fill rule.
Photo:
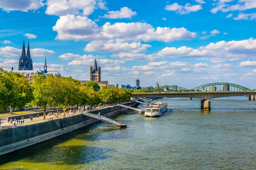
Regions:
<instances>
[{"instance_id":1,"label":"long white cloud bank reaching right edge, high above the arched bridge","mask_svg":"<svg viewBox=\"0 0 256 170\"><path fill-rule=\"evenodd\" d=\"M166 47L154 54L158 57L196 58L211 60L211 62L233 62L245 57L254 57L256 53L256 40L250 38L241 41L220 41L209 43L197 49L186 46L175 48Z\"/></svg>"}]
</instances>

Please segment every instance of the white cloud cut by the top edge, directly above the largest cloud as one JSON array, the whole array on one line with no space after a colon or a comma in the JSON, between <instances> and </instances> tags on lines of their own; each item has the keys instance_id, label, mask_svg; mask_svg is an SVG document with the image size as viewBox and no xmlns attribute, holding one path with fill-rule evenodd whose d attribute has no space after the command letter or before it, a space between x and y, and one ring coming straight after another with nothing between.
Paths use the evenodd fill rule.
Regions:
<instances>
[{"instance_id":1,"label":"white cloud cut by the top edge, directly above the largest cloud","mask_svg":"<svg viewBox=\"0 0 256 170\"><path fill-rule=\"evenodd\" d=\"M47 0L45 13L48 15L90 15L95 8L108 10L103 0Z\"/></svg>"}]
</instances>

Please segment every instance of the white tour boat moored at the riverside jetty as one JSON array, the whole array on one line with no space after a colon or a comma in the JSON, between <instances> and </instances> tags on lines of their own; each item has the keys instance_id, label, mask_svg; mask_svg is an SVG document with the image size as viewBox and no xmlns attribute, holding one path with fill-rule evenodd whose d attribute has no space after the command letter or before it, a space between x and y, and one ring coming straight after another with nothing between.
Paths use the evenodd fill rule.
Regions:
<instances>
[{"instance_id":1,"label":"white tour boat moored at the riverside jetty","mask_svg":"<svg viewBox=\"0 0 256 170\"><path fill-rule=\"evenodd\" d=\"M146 107L145 115L148 117L159 117L167 110L167 103L156 102Z\"/></svg>"}]
</instances>

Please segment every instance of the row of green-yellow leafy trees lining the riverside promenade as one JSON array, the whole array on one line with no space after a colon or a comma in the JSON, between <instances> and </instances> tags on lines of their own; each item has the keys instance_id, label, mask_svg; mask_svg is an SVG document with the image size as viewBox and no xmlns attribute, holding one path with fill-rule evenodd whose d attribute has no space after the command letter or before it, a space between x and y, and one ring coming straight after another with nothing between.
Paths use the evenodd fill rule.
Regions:
<instances>
[{"instance_id":1,"label":"row of green-yellow leafy trees lining the riverside promenade","mask_svg":"<svg viewBox=\"0 0 256 170\"><path fill-rule=\"evenodd\" d=\"M43 109L44 117L47 106L56 106L59 111L79 105L99 105L102 102L116 103L128 100L131 91L123 88L103 87L89 81L86 84L72 77L52 77L36 74L32 85L23 75L7 72L0 68L0 111L8 107L18 109L25 105Z\"/></svg>"}]
</instances>

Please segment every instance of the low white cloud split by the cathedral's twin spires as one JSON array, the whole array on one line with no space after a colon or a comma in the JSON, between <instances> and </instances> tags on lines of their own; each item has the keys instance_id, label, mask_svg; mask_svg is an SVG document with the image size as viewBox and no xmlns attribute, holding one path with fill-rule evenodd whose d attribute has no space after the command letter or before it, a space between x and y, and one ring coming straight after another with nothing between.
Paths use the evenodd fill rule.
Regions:
<instances>
[{"instance_id":1,"label":"low white cloud split by the cathedral's twin spires","mask_svg":"<svg viewBox=\"0 0 256 170\"><path fill-rule=\"evenodd\" d=\"M1 47L0 56L3 57L17 57L21 55L22 49L17 49L14 47ZM55 54L52 50L47 50L43 48L30 48L30 54L32 57L47 57Z\"/></svg>"}]
</instances>

